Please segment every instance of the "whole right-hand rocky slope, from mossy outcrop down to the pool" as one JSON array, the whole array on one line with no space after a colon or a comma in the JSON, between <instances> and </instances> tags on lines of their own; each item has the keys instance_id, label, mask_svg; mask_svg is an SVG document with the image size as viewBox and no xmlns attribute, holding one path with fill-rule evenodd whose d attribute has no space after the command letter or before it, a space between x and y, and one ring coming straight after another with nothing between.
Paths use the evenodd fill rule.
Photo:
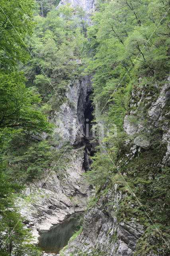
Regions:
<instances>
[{"instance_id":1,"label":"whole right-hand rocky slope, from mossy outcrop down to the pool","mask_svg":"<svg viewBox=\"0 0 170 256\"><path fill-rule=\"evenodd\" d=\"M170 78L163 86L155 83L150 87L139 79L138 87L132 90L131 111L124 120L124 130L129 135L129 140L124 145L121 157L118 157L117 174L110 174L106 184L97 192L84 216L82 233L74 241L70 240L68 249L61 255L132 256L135 252L138 256L168 255L168 240L154 226L154 220L151 220L152 208L150 212L149 208L145 212L141 199L134 196L127 182L128 175L135 170L136 161L139 164L140 159L143 160L140 171L147 165L149 168L145 174L147 182L157 182L158 172L169 164L169 80ZM154 151L157 143L162 145L160 151ZM147 155L150 162L147 162ZM156 159L160 160L156 162ZM156 168L156 172L150 171L152 166ZM135 174L134 171L134 175L138 175L137 172ZM147 187L141 186L141 194L145 194L144 189ZM159 201L159 198L156 200ZM152 207L155 204L156 201ZM166 204L164 202L161 205L160 202L162 211L166 210ZM140 207L142 214L137 213ZM150 224L147 220L153 225L151 232L148 232Z\"/></svg>"}]
</instances>

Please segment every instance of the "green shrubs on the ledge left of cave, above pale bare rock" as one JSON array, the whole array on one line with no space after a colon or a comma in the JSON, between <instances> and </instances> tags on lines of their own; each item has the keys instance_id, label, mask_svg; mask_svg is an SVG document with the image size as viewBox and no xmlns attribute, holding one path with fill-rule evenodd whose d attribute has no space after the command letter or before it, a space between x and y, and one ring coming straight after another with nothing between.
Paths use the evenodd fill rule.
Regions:
<instances>
[{"instance_id":1,"label":"green shrubs on the ledge left of cave, above pale bare rock","mask_svg":"<svg viewBox=\"0 0 170 256\"><path fill-rule=\"evenodd\" d=\"M2 160L8 164L6 172L12 180L23 183L42 177L45 170L52 168L56 172L62 172L68 165L71 146L66 143L59 149L59 145L59 137L56 140L49 138L49 141L38 141L28 134L13 136L3 149ZM59 159L62 155L64 160L61 162Z\"/></svg>"}]
</instances>

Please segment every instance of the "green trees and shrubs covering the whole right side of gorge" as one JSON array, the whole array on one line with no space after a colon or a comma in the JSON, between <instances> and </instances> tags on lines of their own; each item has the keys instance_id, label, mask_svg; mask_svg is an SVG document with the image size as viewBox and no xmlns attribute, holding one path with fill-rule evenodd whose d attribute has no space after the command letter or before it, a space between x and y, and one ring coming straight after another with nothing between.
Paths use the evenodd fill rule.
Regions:
<instances>
[{"instance_id":1,"label":"green trees and shrubs covering the whole right side of gorge","mask_svg":"<svg viewBox=\"0 0 170 256\"><path fill-rule=\"evenodd\" d=\"M100 146L93 157L92 171L87 172L87 180L97 188L105 182L109 182L109 186L117 184L117 189L127 194L116 215L119 221L136 218L144 224L146 232L139 239L136 254L147 255L149 250L157 252L159 248L160 255L165 255L167 246L158 231L165 240L168 239L169 166L161 165L166 153L166 145L161 143L161 126L166 126L167 122L158 121L158 128L150 127L147 112L151 102L160 95L162 84L167 82L169 3L100 0L97 10L87 32L90 40L85 42L88 58L84 73L93 76L92 100L97 106L94 117L97 124L105 124L107 135L103 146L107 156ZM146 99L141 101L141 96ZM131 124L141 125L144 129L127 137L123 132L123 121L130 111L134 113L129 119ZM164 113L167 112L168 104L164 108ZM135 136L148 138L150 145L131 158L129 150ZM90 207L99 197L100 189L90 200ZM153 230L144 210L158 230Z\"/></svg>"}]
</instances>

